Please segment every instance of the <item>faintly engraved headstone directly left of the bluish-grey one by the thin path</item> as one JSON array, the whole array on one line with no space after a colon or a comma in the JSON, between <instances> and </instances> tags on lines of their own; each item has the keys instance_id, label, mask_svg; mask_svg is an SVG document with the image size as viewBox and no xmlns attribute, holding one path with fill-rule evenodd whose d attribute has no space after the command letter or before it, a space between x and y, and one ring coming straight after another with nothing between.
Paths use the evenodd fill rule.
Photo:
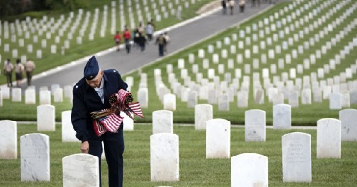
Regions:
<instances>
[{"instance_id":1,"label":"faintly engraved headstone directly left of the bluish-grey one by the thin path","mask_svg":"<svg viewBox=\"0 0 357 187\"><path fill-rule=\"evenodd\" d=\"M265 111L245 111L245 141L265 141Z\"/></svg>"}]
</instances>

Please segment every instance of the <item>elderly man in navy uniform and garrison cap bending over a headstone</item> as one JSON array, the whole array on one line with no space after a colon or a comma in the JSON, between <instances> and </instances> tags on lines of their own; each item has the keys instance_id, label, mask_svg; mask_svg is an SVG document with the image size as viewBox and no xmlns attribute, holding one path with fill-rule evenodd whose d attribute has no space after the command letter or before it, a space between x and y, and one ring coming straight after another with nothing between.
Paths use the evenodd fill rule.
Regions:
<instances>
[{"instance_id":1,"label":"elderly man in navy uniform and garrison cap bending over a headstone","mask_svg":"<svg viewBox=\"0 0 357 187\"><path fill-rule=\"evenodd\" d=\"M105 132L98 136L94 131L91 112L110 108L108 98L120 89L127 89L115 69L102 71L95 56L84 67L84 77L73 88L72 124L81 140L80 150L84 154L99 157L101 164L102 142L108 164L109 187L122 187L124 136L123 125L117 132ZM100 177L101 178L101 177Z\"/></svg>"}]
</instances>

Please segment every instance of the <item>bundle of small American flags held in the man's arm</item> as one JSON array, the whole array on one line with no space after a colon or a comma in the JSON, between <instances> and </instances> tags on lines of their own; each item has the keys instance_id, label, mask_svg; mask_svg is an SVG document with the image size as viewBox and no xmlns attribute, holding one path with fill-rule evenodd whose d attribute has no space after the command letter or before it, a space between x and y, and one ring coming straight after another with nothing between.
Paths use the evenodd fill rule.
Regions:
<instances>
[{"instance_id":1,"label":"bundle of small American flags held in the man's arm","mask_svg":"<svg viewBox=\"0 0 357 187\"><path fill-rule=\"evenodd\" d=\"M94 131L97 136L101 136L105 132L116 132L122 121L123 117L120 112L124 112L127 116L133 119L132 114L144 118L139 102L131 103L133 97L130 92L120 89L118 93L109 97L111 107L100 111L92 112ZM134 119L133 119L134 120Z\"/></svg>"}]
</instances>

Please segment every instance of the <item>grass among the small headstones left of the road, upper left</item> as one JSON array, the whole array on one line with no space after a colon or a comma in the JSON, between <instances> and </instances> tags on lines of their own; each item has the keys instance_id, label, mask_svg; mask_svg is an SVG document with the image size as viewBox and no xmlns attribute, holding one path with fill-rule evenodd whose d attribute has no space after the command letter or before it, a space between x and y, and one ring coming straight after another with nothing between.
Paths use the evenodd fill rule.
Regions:
<instances>
[{"instance_id":1,"label":"grass among the small headstones left of the road, upper left","mask_svg":"<svg viewBox=\"0 0 357 187\"><path fill-rule=\"evenodd\" d=\"M190 19L192 17L197 16L197 14L195 13L198 9L200 9L200 7L202 7L203 5L211 2L213 0L200 0L200 1L195 1L195 4L190 4L189 8L184 8L184 2L186 1L180 1L180 4L183 7L183 10L181 12L181 19L177 19L176 15L171 15L169 13L169 16L167 17L167 19L163 18L162 16L162 20L160 22L156 22L155 21L155 17L154 17L154 12L152 11L152 9L150 9L151 11L151 15L152 18L154 19L154 23L155 23L155 30L161 30L163 28L167 28L169 26L175 25L179 22L182 22L184 20ZM88 4L90 7L88 8L84 8L83 11L91 11L91 14L94 14L94 10L96 8L100 9L100 12L103 11L103 6L104 5L108 5L108 9L110 10L111 8L111 2L112 0L89 0ZM136 1L132 1L132 2L136 2ZM140 6L141 6L141 10L144 12L143 16L145 14L144 11L144 5L142 3L142 1L138 1L140 2ZM151 1L148 1L149 3ZM159 5L159 1L155 0L156 4ZM163 1L165 6L167 7L168 2L167 1ZM175 1L170 1L170 2L175 2ZM187 2L191 2L191 1L187 1ZM116 1L117 3L117 18L116 18L116 30L120 30L120 32L122 33L121 29L120 29L120 17L119 17L119 1ZM135 5L135 4L134 4ZM133 5L133 6L134 6ZM149 4L150 5L150 4ZM178 5L175 5L174 3L174 7L177 7ZM124 9L127 9L128 5L127 5L127 1L124 1ZM135 6L134 6L134 10L135 10ZM75 12L75 16L77 15L77 10L74 11ZM30 15L32 16L32 18L34 18L33 16L36 16L37 21L41 20L42 17L44 15L48 16L48 20L50 20L51 17L55 18L55 21L57 21L60 18L60 15L64 14L65 15L65 19L67 19L69 17L70 12L63 12L63 11L40 11L40 12L30 12L24 15L18 15L18 16L11 16L11 17L0 17L0 20L2 21L2 23L6 20L9 20L9 23L14 22L16 19L20 19L20 21L25 20L26 16ZM84 13L85 15L85 13ZM5 39L2 38L2 46L1 46L1 51L0 51L0 55L1 55L1 64L3 64L3 62L5 61L5 59L10 58L11 62L13 64L16 63L16 58L12 58L12 49L18 49L18 57L21 58L22 54L27 55L27 59L32 59L34 60L35 64L36 64L36 68L34 70L34 75L35 74L39 74L41 72L44 72L46 70L49 70L51 68L55 68L58 66L62 66L66 63L75 61L77 59L86 57L86 56L90 56L92 54L95 54L97 52L106 50L108 48L114 47L115 43L114 43L114 35L110 33L110 23L111 23L111 16L109 16L110 14L108 14L107 16L107 25L106 25L106 31L105 31L105 37L100 37L100 27L102 24L102 19L100 17L100 19L98 20L97 23L97 27L96 27L96 33L94 35L94 40L90 41L88 38L88 34L89 34L89 28L91 26L91 24L89 24L88 29L86 30L84 37L82 38L82 45L78 45L76 43L76 38L79 35L79 30L80 27L77 28L77 30L75 31L75 33L73 34L73 39L70 40L70 49L66 49L65 50L65 55L60 54L61 53L61 46L64 45L64 40L67 38L67 33L69 32L70 29L68 29L66 32L64 32L64 36L61 37L61 41L60 44L57 44L57 53L56 54L51 54L50 53L50 49L51 49L51 45L55 45L55 36L58 35L58 32L56 31L54 34L52 34L52 37L50 40L47 40L47 47L46 48L42 48L41 47L41 40L46 38L46 32L44 32L42 34L42 36L38 36L38 42L37 43L33 43L32 42L32 36L34 34L31 33L30 38L29 39L25 39L25 46L24 47L20 47L19 46L19 42L18 40L20 38L24 38L24 34L22 36L17 36L17 41L15 43L11 42L11 34L9 39ZM100 15L102 16L102 15ZM137 27L139 25L139 21L143 21L143 23L146 25L147 24L147 20L146 17L144 16L144 20L138 20L137 15L134 14L134 21L135 21L135 26ZM93 16L90 19L90 22L92 21ZM81 20L81 24L83 22L84 18L82 18ZM125 21L126 23L128 23L129 25L129 13L126 10L125 11ZM80 24L80 25L81 25ZM130 28L131 30L134 30L135 28ZM3 50L3 45L4 43L9 43L10 44L10 51L9 52L4 52ZM27 53L27 44L32 44L33 45L33 52L32 53ZM41 49L42 50L42 58L41 59L37 59L36 58L36 50ZM1 65L2 67L2 65ZM2 74L2 71L1 71ZM0 75L1 75L0 74ZM13 76L14 78L15 76ZM26 77L26 75L24 74L24 77ZM5 76L0 76L0 84L5 84L6 83L6 78Z\"/></svg>"}]
</instances>

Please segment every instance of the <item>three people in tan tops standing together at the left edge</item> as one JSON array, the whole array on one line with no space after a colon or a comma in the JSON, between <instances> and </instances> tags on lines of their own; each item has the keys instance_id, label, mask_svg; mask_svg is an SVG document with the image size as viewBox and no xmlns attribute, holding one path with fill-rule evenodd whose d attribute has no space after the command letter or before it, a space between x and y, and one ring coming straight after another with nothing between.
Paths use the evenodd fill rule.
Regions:
<instances>
[{"instance_id":1,"label":"three people in tan tops standing together at the left edge","mask_svg":"<svg viewBox=\"0 0 357 187\"><path fill-rule=\"evenodd\" d=\"M2 68L4 75L6 76L7 87L12 87L12 72L15 69L16 87L20 87L22 83L24 71L27 76L27 86L31 85L32 73L35 69L35 63L29 59L25 65L21 63L20 59L16 60L15 67L11 63L10 59L7 59L4 67Z\"/></svg>"}]
</instances>

